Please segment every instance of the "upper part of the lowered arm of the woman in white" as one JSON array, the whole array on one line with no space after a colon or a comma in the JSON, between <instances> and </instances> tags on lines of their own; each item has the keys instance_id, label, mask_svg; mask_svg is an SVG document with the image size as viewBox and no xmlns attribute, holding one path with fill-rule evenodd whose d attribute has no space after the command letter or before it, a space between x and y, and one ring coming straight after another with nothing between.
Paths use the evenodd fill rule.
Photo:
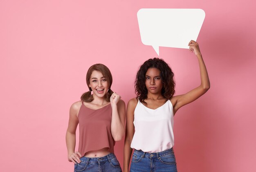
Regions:
<instances>
[{"instance_id":1,"label":"upper part of the lowered arm of the woman in white","mask_svg":"<svg viewBox=\"0 0 256 172\"><path fill-rule=\"evenodd\" d=\"M126 111L126 139L129 139L130 141L133 138L134 135L134 110L137 105L137 99L132 98L127 105L127 111Z\"/></svg>"}]
</instances>

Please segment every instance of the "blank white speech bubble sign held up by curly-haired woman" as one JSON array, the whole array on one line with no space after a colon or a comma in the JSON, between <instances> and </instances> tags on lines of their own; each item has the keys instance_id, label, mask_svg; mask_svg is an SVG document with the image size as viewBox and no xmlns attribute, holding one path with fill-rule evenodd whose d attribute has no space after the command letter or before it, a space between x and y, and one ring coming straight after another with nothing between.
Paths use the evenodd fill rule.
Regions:
<instances>
[{"instance_id":1,"label":"blank white speech bubble sign held up by curly-haired woman","mask_svg":"<svg viewBox=\"0 0 256 172\"><path fill-rule=\"evenodd\" d=\"M137 17L141 42L151 45L159 56L159 47L189 49L189 41L198 38L205 13L202 9L140 9Z\"/></svg>"}]
</instances>

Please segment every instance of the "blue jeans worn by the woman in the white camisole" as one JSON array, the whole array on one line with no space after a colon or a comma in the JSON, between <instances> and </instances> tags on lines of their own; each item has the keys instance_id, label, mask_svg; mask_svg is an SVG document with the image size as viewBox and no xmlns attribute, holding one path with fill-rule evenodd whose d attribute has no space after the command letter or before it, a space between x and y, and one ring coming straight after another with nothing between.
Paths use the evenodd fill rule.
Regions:
<instances>
[{"instance_id":1,"label":"blue jeans worn by the woman in the white camisole","mask_svg":"<svg viewBox=\"0 0 256 172\"><path fill-rule=\"evenodd\" d=\"M173 148L157 153L134 150L130 172L177 172Z\"/></svg>"}]
</instances>

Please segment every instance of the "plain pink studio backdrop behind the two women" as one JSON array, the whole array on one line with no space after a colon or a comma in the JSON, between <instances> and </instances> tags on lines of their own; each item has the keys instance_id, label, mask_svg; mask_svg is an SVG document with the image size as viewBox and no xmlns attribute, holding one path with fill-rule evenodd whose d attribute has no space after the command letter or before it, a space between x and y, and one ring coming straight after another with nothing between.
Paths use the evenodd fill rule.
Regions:
<instances>
[{"instance_id":1,"label":"plain pink studio backdrop behind the two women","mask_svg":"<svg viewBox=\"0 0 256 172\"><path fill-rule=\"evenodd\" d=\"M0 171L72 171L65 132L70 105L88 90L88 67L107 65L127 104L139 65L157 56L141 43L137 11L200 8L197 41L211 89L175 115L178 171L255 172L255 7L253 0L0 0ZM160 47L160 57L175 72L176 94L200 84L189 50ZM121 165L123 144L115 147Z\"/></svg>"}]
</instances>

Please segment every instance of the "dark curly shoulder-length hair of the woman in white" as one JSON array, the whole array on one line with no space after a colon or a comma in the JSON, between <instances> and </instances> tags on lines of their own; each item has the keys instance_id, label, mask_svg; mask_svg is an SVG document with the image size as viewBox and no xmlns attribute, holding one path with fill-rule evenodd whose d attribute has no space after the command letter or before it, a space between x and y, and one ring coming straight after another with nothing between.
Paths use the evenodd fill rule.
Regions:
<instances>
[{"instance_id":1,"label":"dark curly shoulder-length hair of the woman in white","mask_svg":"<svg viewBox=\"0 0 256 172\"><path fill-rule=\"evenodd\" d=\"M145 99L148 98L148 90L146 88L146 72L149 68L157 68L160 70L160 76L162 79L162 96L166 98L166 101L171 99L175 93L175 81L173 80L173 71L169 65L161 58L150 58L140 66L135 80L135 93L136 98L141 103L147 104Z\"/></svg>"}]
</instances>

